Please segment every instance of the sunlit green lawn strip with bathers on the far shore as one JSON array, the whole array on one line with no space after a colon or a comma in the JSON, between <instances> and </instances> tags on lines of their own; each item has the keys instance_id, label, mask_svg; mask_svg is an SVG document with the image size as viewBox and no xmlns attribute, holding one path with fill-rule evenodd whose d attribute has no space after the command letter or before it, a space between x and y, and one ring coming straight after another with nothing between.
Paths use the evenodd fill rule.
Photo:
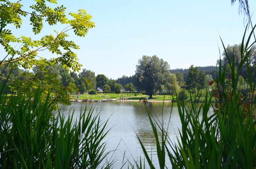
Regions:
<instances>
[{"instance_id":1,"label":"sunlit green lawn strip with bathers on the far shore","mask_svg":"<svg viewBox=\"0 0 256 169\"><path fill-rule=\"evenodd\" d=\"M131 96L130 96L130 93L120 93L119 95L115 94L115 93L97 93L95 95L89 95L89 94L82 94L82 96L80 95L75 95L75 94L71 94L70 95L72 99L76 99L78 97L78 99L82 99L82 100L102 100L104 99L122 99L122 98L127 98L128 99L134 99L134 100L139 100L141 97L149 97L147 95L142 95L141 93L140 94L137 94L136 96L134 95L134 93L131 93ZM170 95L155 95L153 96L153 100L163 100L163 98L165 97L165 100L170 100L171 99L171 96Z\"/></svg>"}]
</instances>

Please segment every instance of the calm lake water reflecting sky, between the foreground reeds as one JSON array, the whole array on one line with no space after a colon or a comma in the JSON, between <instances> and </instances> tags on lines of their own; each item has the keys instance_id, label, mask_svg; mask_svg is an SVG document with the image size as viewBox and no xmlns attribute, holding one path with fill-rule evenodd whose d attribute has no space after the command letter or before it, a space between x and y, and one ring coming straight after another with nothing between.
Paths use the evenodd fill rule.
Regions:
<instances>
[{"instance_id":1,"label":"calm lake water reflecting sky, between the foreground reeds","mask_svg":"<svg viewBox=\"0 0 256 169\"><path fill-rule=\"evenodd\" d=\"M69 109L75 109L77 116L79 116L80 108L85 108L85 102L72 102L71 106L59 105L59 108L63 113L67 113ZM158 159L156 156L156 145L153 136L152 128L148 115L145 110L145 106L139 102L89 102L87 107L95 106L94 113L100 114L100 119L106 121L109 118L107 127L110 129L107 137L107 149L106 151L115 150L115 168L121 168L126 160L135 164L134 159L144 159L144 155L140 146L140 142L136 136L139 136L143 142L145 148L151 155L155 167L158 167ZM162 114L163 106L163 114ZM147 108L152 113L153 117L161 121L163 120L164 129L172 141L177 141L179 137L178 129L181 129L181 123L179 120L179 114L177 104L174 103L173 110L171 113L171 102L150 102L147 104ZM171 116L171 118L170 118ZM170 123L169 123L170 119ZM169 126L168 126L169 123ZM119 144L120 143L120 144ZM119 144L119 146L118 146ZM118 146L118 147L117 147ZM166 158L168 158L166 156ZM146 160L145 160L145 163ZM170 161L166 162L167 167L171 168ZM123 168L127 168L127 163ZM129 167L130 168L130 167ZM146 168L147 167L146 165Z\"/></svg>"}]
</instances>

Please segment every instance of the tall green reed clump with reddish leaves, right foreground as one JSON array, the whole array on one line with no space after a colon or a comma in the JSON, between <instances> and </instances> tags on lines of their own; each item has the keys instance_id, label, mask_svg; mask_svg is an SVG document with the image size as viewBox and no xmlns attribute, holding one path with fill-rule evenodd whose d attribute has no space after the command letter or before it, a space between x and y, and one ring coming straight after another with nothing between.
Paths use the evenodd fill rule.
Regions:
<instances>
[{"instance_id":1,"label":"tall green reed clump with reddish leaves, right foreground","mask_svg":"<svg viewBox=\"0 0 256 169\"><path fill-rule=\"evenodd\" d=\"M185 106L184 100L179 102L177 97L182 128L176 143L170 140L162 124L153 122L147 110L157 142L159 168L166 168L165 160L170 160L173 168L255 168L255 82L251 80L248 63L248 54L255 44L249 45L254 29L246 43L244 33L238 68L235 67L234 54L233 59L228 60L229 73L225 66L222 69L220 60L218 77L209 83L202 104L198 102L201 97L199 92L195 95L190 92L189 106ZM223 47L226 52L224 44ZM248 74L249 92L246 95L237 90L239 73L244 64ZM150 168L155 168L141 141L140 144ZM142 168L141 165L135 167Z\"/></svg>"}]
</instances>

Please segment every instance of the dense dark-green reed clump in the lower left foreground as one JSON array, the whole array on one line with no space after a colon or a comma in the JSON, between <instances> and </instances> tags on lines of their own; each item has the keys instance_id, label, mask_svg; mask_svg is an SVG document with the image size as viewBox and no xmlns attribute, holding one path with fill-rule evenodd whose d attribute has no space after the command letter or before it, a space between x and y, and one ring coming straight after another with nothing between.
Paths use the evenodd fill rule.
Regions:
<instances>
[{"instance_id":1,"label":"dense dark-green reed clump in the lower left foreground","mask_svg":"<svg viewBox=\"0 0 256 169\"><path fill-rule=\"evenodd\" d=\"M93 108L63 115L44 102L40 88L31 97L7 97L0 87L0 168L111 168L105 152L108 133Z\"/></svg>"}]
</instances>

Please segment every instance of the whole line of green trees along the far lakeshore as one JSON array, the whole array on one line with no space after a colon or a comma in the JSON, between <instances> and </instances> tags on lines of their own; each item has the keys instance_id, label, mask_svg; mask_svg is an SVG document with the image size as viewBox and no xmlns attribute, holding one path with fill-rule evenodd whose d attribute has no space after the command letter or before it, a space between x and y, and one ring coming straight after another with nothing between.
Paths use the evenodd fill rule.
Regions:
<instances>
[{"instance_id":1,"label":"whole line of green trees along the far lakeshore","mask_svg":"<svg viewBox=\"0 0 256 169\"><path fill-rule=\"evenodd\" d=\"M221 62L223 66L228 67L228 59L231 59L229 54L233 55L233 52L235 53L235 64L240 64L239 57L236 56L236 53L240 51L240 47L240 45L227 46L226 50L229 58L225 52L222 54L223 59ZM255 46L253 46L252 52L248 56L253 82L255 82L256 70L255 51ZM240 71L239 84L241 87L245 87L244 82L247 81L245 64ZM136 65L135 75L129 77L123 75L116 80L109 79L104 74L95 76L93 71L85 68L79 73L71 72L62 64L47 65L45 68L49 72L48 74L40 66L33 66L32 71L26 71L13 65L0 66L1 79L2 81L9 79L9 85L6 90L9 89L11 92L32 91L30 88L37 87L36 85L40 82L44 85L51 85L53 93L59 92L59 86L65 88L65 93L88 92L90 94L95 94L97 88L103 89L105 93L120 93L124 88L125 91L130 92L145 92L152 98L152 95L161 93L163 90L167 91L168 94L175 95L175 91L179 92L180 88L192 91L204 89L212 78L217 77L216 70L218 67L194 67L191 65L188 69L170 70L169 64L157 56L143 56ZM229 72L230 69L227 68L227 77ZM30 84L28 85L28 83Z\"/></svg>"}]
</instances>

